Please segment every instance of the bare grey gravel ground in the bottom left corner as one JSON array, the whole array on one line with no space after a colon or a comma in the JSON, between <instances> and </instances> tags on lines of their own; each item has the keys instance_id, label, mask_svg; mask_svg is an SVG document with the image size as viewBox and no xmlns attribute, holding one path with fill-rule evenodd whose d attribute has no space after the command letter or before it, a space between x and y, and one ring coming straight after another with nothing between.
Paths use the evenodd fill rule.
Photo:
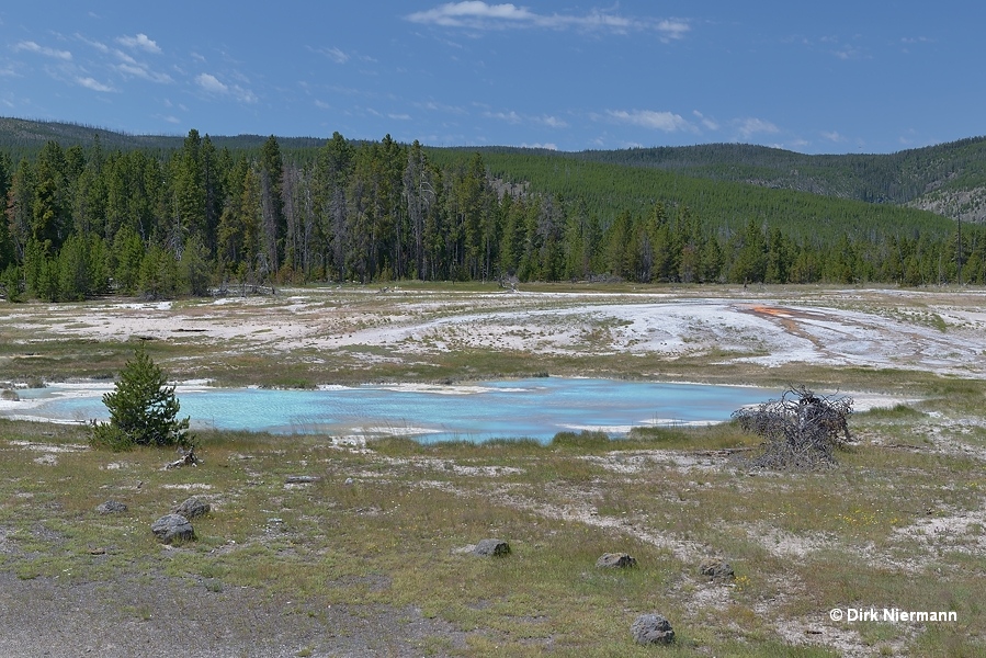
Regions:
<instances>
[{"instance_id":1,"label":"bare grey gravel ground in the bottom left corner","mask_svg":"<svg viewBox=\"0 0 986 658\"><path fill-rule=\"evenodd\" d=\"M259 598L264 597L264 598ZM60 583L0 571L0 656L441 656L463 634L420 610L213 592L167 578Z\"/></svg>"}]
</instances>

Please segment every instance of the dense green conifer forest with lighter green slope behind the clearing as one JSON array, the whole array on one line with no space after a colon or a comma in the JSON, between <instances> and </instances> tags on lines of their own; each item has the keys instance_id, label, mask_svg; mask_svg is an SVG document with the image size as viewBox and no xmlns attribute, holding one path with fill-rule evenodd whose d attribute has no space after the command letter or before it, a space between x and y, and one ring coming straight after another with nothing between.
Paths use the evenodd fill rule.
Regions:
<instances>
[{"instance_id":1,"label":"dense green conifer forest with lighter green slope behind the clearing","mask_svg":"<svg viewBox=\"0 0 986 658\"><path fill-rule=\"evenodd\" d=\"M76 300L318 281L921 285L986 275L978 227L964 227L960 247L957 231L853 223L866 204L834 215L813 195L745 197L746 188L707 181L689 205L668 185L690 179L655 179L665 188L646 183L642 196L645 183L622 172L645 170L614 166L539 188L534 170L525 179L497 157L339 133L318 148L285 152L272 136L231 151L194 129L170 151L104 151L97 135L88 147L50 140L16 163L0 152L0 288L11 300Z\"/></svg>"}]
</instances>

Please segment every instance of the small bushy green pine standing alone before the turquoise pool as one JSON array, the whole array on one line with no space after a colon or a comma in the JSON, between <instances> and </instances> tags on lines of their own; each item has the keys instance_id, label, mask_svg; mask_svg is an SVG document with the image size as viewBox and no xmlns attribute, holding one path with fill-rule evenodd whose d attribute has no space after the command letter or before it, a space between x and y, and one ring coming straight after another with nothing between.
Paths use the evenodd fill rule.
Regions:
<instances>
[{"instance_id":1,"label":"small bushy green pine standing alone before the turquoise pool","mask_svg":"<svg viewBox=\"0 0 986 658\"><path fill-rule=\"evenodd\" d=\"M174 386L141 345L120 374L114 390L103 395L110 422L92 426L91 441L113 450L134 445L181 445L192 441L189 418L178 420L181 408Z\"/></svg>"}]
</instances>

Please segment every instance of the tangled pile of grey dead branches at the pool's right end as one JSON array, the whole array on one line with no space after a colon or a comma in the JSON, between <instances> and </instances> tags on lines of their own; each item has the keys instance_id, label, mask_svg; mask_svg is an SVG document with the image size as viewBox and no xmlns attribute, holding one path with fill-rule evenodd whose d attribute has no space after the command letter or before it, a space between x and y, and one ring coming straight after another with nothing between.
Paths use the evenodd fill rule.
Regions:
<instances>
[{"instance_id":1,"label":"tangled pile of grey dead branches at the pool's right end","mask_svg":"<svg viewBox=\"0 0 986 658\"><path fill-rule=\"evenodd\" d=\"M780 399L739 409L733 418L763 439L752 467L812 470L836 464L835 451L852 440L851 413L852 398L817 395L801 386L789 388Z\"/></svg>"}]
</instances>

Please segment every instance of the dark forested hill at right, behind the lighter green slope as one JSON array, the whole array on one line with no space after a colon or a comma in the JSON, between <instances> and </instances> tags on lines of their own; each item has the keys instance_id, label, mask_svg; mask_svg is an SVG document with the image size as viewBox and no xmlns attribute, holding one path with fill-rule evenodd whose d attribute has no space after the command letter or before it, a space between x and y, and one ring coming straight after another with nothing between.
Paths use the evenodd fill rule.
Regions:
<instances>
[{"instance_id":1,"label":"dark forested hill at right, behind the lighter green slope","mask_svg":"<svg viewBox=\"0 0 986 658\"><path fill-rule=\"evenodd\" d=\"M986 137L889 155L806 156L764 146L707 144L582 151L571 157L986 220Z\"/></svg>"}]
</instances>

